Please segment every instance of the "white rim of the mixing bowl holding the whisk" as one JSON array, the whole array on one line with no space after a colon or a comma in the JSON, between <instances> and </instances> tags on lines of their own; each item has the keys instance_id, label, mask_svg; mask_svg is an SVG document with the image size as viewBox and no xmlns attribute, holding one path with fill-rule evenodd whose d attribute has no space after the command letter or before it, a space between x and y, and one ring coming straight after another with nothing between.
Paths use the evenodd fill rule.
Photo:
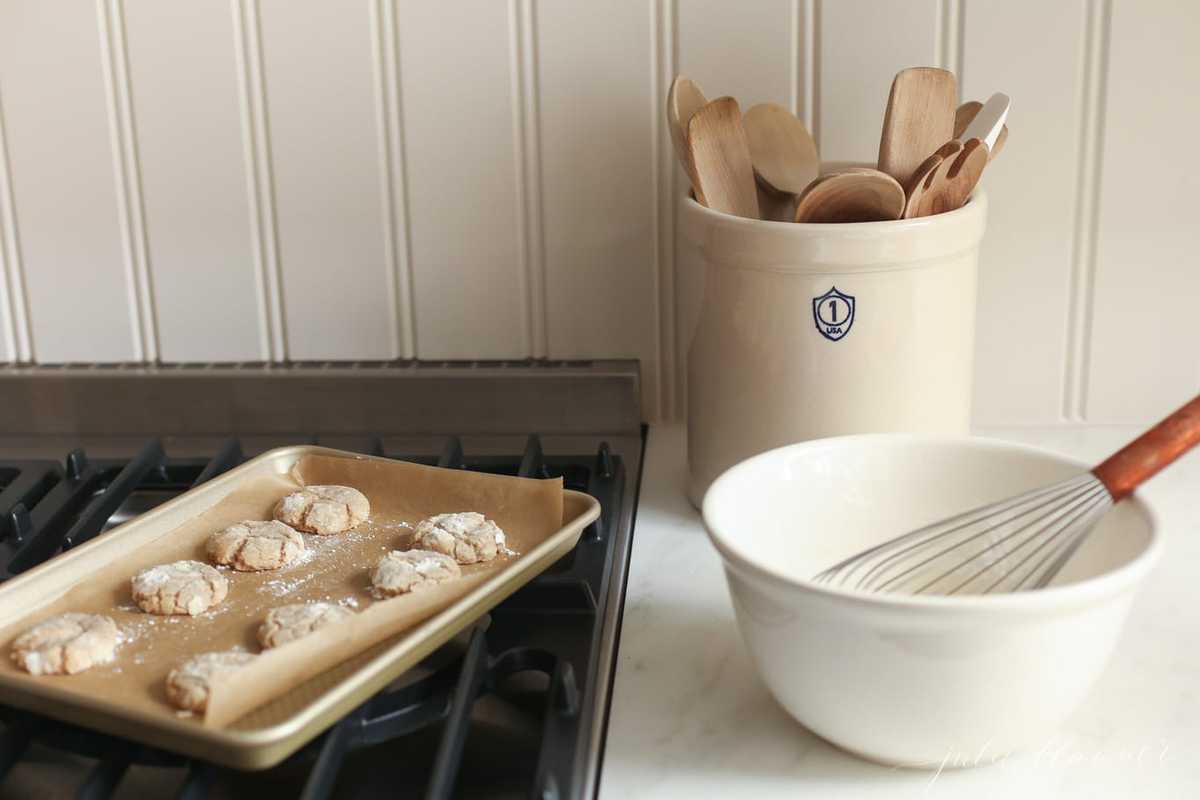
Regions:
<instances>
[{"instance_id":1,"label":"white rim of the mixing bowl holding the whisk","mask_svg":"<svg viewBox=\"0 0 1200 800\"><path fill-rule=\"evenodd\" d=\"M798 578L782 570L760 564L738 551L733 540L720 531L713 523L714 507L718 491L721 486L732 483L738 474L757 462L772 461L784 457L785 453L803 452L805 450L817 450L836 444L870 444L872 441L887 443L922 443L941 445L971 445L982 446L992 451L1020 452L1034 456L1049 456L1050 458L1068 465L1076 465L1081 471L1092 469L1092 465L1078 458L1064 456L1048 447L1026 445L1007 439L976 435L948 435L925 433L862 433L844 437L828 437L823 439L810 439L796 444L774 447L766 452L751 456L721 473L708 491L701 504L701 516L704 530L709 541L721 555L726 567L752 578L762 578L767 582L787 589L799 589L830 600L850 602L857 606L865 606L876 609L895 608L920 608L930 612L982 612L982 610L1045 610L1048 607L1075 607L1093 602L1104 596L1120 594L1134 587L1150 569L1157 563L1162 554L1162 535L1159 534L1159 518L1153 509L1136 494L1122 500L1138 507L1150 524L1150 543L1133 559L1122 564L1115 570L1103 572L1097 576L1084 578L1074 583L1061 587L1050 587L1030 591L1004 593L996 595L902 595L887 593L871 593L860 589L841 589L818 584L809 578Z\"/></svg>"}]
</instances>

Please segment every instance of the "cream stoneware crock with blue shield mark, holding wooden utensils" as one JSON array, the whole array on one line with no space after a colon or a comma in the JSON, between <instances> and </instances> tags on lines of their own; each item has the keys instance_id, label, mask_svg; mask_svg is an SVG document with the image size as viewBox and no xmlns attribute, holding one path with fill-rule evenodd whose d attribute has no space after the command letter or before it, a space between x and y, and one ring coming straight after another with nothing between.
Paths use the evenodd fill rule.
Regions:
<instances>
[{"instance_id":1,"label":"cream stoneware crock with blue shield mark, holding wooden utensils","mask_svg":"<svg viewBox=\"0 0 1200 800\"><path fill-rule=\"evenodd\" d=\"M688 353L692 504L785 444L966 433L986 211L980 192L919 219L796 224L684 198L680 269L704 275Z\"/></svg>"}]
</instances>

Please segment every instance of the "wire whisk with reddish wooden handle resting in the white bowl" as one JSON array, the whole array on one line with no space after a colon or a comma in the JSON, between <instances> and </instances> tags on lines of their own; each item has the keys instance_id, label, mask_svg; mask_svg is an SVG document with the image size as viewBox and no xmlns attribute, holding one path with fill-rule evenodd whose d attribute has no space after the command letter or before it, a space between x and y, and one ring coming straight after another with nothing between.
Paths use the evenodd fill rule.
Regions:
<instances>
[{"instance_id":1,"label":"wire whisk with reddish wooden handle resting in the white bowl","mask_svg":"<svg viewBox=\"0 0 1200 800\"><path fill-rule=\"evenodd\" d=\"M1114 504L1198 441L1200 397L1090 473L896 536L814 581L912 595L1042 589Z\"/></svg>"}]
</instances>

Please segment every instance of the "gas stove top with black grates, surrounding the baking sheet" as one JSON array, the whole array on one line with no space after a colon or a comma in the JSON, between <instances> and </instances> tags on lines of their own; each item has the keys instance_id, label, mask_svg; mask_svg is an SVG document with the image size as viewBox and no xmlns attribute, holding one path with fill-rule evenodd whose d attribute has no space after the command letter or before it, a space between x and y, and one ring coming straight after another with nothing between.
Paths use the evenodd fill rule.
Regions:
<instances>
[{"instance_id":1,"label":"gas stove top with black grates, surrounding the baking sheet","mask_svg":"<svg viewBox=\"0 0 1200 800\"><path fill-rule=\"evenodd\" d=\"M517 373L505 380L520 380ZM144 391L145 383L138 389ZM643 437L640 427L583 433L580 423L566 431L559 423L562 432L546 435L360 434L341 428L334 434L180 435L169 420L163 420L161 437L146 437L140 428L35 435L0 431L0 579L287 444L314 443L451 469L562 476L568 488L593 494L602 507L568 557L276 768L239 772L0 706L0 799L233 798L253 792L304 798L592 796L602 759ZM470 420L468 427L478 431L480 423ZM539 427L554 429L554 421Z\"/></svg>"}]
</instances>

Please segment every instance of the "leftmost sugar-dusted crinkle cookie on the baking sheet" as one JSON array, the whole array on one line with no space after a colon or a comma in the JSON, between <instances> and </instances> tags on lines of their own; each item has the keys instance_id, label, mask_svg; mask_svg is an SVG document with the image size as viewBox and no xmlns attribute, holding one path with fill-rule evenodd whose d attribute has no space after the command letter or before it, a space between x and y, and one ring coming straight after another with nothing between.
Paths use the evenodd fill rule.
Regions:
<instances>
[{"instance_id":1,"label":"leftmost sugar-dusted crinkle cookie on the baking sheet","mask_svg":"<svg viewBox=\"0 0 1200 800\"><path fill-rule=\"evenodd\" d=\"M12 660L30 675L73 675L113 660L116 622L101 614L66 613L38 622L12 643Z\"/></svg>"}]
</instances>

